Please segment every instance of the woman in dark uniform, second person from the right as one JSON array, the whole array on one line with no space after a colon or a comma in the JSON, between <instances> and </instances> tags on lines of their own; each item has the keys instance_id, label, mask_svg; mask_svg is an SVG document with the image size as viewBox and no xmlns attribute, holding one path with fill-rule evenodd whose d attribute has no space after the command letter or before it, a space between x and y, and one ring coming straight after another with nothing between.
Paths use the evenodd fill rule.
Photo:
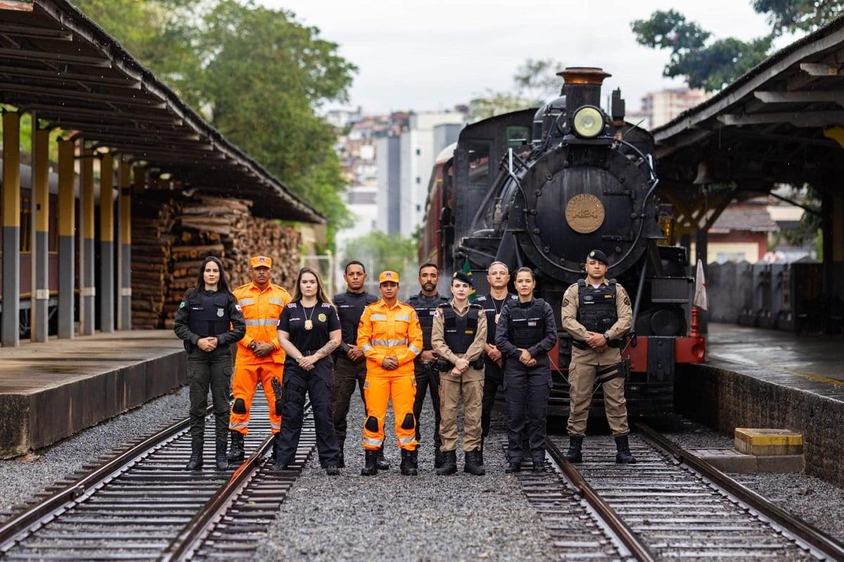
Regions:
<instances>
[{"instance_id":1,"label":"woman in dark uniform, second person from the right","mask_svg":"<svg viewBox=\"0 0 844 562\"><path fill-rule=\"evenodd\" d=\"M507 404L506 472L522 469L522 434L527 430L533 471L545 463L545 431L551 367L548 352L557 342L557 326L551 305L533 298L536 280L527 267L516 271L518 302L501 310L495 329L495 346L504 360L504 399Z\"/></svg>"}]
</instances>

